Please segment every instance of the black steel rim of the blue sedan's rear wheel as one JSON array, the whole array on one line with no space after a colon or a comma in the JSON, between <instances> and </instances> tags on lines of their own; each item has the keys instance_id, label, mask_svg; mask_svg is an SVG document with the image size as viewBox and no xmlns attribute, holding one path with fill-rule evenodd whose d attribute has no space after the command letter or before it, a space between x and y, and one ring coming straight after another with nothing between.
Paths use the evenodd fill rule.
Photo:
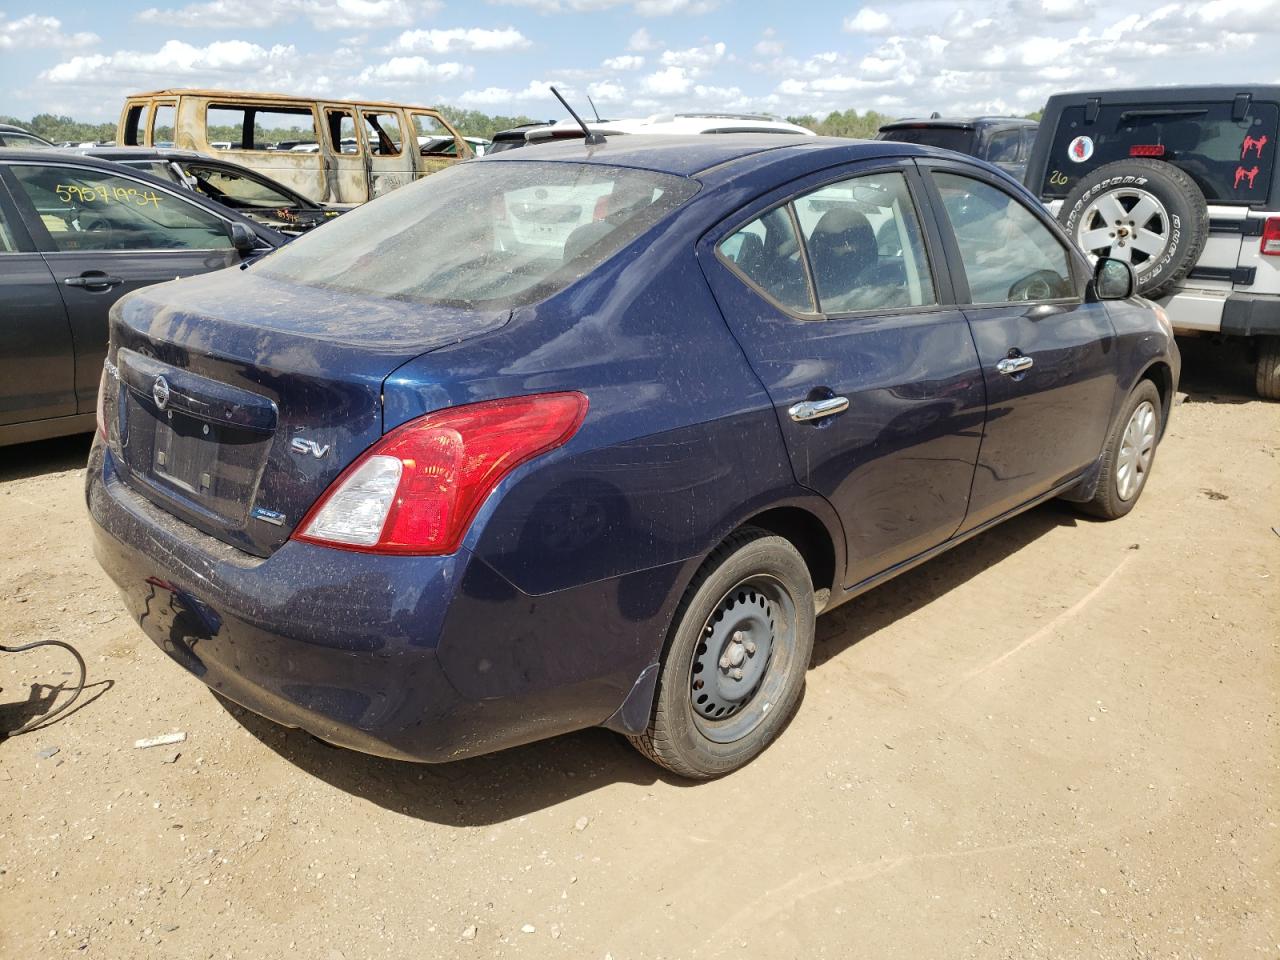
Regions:
<instances>
[{"instance_id":1,"label":"black steel rim of the blue sedan's rear wheel","mask_svg":"<svg viewBox=\"0 0 1280 960\"><path fill-rule=\"evenodd\" d=\"M781 581L746 577L726 591L703 623L689 675L694 724L731 744L764 722L795 659L796 607Z\"/></svg>"}]
</instances>

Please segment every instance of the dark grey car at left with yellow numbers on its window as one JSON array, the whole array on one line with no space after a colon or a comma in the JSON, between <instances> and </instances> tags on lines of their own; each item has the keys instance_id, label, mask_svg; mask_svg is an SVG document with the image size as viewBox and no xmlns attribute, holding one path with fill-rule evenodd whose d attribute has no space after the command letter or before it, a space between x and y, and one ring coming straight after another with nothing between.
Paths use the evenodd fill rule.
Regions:
<instances>
[{"instance_id":1,"label":"dark grey car at left with yellow numbers on its window","mask_svg":"<svg viewBox=\"0 0 1280 960\"><path fill-rule=\"evenodd\" d=\"M0 151L0 445L93 429L108 311L288 238L141 170Z\"/></svg>"}]
</instances>

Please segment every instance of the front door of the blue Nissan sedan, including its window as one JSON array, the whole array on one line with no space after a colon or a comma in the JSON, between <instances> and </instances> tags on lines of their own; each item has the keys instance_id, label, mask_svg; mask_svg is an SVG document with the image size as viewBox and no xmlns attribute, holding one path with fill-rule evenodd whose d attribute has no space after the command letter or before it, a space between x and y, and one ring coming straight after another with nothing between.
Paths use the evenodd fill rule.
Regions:
<instances>
[{"instance_id":1,"label":"front door of the blue Nissan sedan, including its window","mask_svg":"<svg viewBox=\"0 0 1280 960\"><path fill-rule=\"evenodd\" d=\"M1083 257L1029 197L983 170L920 161L982 360L987 425L964 530L1080 475L1115 402L1116 335Z\"/></svg>"}]
</instances>

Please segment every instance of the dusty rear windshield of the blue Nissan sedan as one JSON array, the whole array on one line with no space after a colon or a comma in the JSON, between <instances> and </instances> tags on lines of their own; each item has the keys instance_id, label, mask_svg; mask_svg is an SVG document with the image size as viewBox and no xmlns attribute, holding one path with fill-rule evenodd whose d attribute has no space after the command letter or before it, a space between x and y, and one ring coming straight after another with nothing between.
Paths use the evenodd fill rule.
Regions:
<instances>
[{"instance_id":1,"label":"dusty rear windshield of the blue Nissan sedan","mask_svg":"<svg viewBox=\"0 0 1280 960\"><path fill-rule=\"evenodd\" d=\"M467 163L365 204L253 269L417 303L549 297L684 204L682 177L593 164Z\"/></svg>"}]
</instances>

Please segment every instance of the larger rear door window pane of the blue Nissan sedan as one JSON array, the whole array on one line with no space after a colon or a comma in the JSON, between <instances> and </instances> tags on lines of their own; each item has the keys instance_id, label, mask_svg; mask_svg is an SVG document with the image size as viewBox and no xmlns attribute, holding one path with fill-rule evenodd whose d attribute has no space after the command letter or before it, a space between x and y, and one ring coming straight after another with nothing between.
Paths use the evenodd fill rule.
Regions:
<instances>
[{"instance_id":1,"label":"larger rear door window pane of the blue Nissan sedan","mask_svg":"<svg viewBox=\"0 0 1280 960\"><path fill-rule=\"evenodd\" d=\"M795 201L823 314L936 303L906 178L878 173Z\"/></svg>"}]
</instances>

